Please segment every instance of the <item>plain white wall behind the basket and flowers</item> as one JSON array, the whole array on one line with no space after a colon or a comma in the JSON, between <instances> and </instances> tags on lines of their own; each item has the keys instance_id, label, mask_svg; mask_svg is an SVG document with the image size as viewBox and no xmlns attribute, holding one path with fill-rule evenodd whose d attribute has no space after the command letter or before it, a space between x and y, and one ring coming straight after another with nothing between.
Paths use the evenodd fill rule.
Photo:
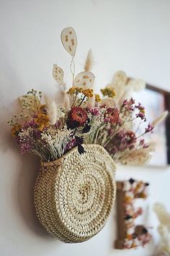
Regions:
<instances>
[{"instance_id":1,"label":"plain white wall behind the basket and flowers","mask_svg":"<svg viewBox=\"0 0 170 256\"><path fill-rule=\"evenodd\" d=\"M161 201L170 210L170 168L117 168L117 179L133 176L151 182L146 206L150 207L148 223L153 226L155 239L150 246L128 252L113 249L115 212L107 226L89 242L63 244L50 239L35 216L33 189L39 159L19 155L6 121L16 111L16 98L30 88L55 92L51 74L55 61L66 70L66 82L69 81L70 58L61 46L60 33L70 25L79 41L77 72L88 49L94 51L96 88L107 84L112 74L122 69L129 76L170 90L170 1L1 0L0 12L0 255L153 255L158 236L151 208L153 202Z\"/></svg>"}]
</instances>

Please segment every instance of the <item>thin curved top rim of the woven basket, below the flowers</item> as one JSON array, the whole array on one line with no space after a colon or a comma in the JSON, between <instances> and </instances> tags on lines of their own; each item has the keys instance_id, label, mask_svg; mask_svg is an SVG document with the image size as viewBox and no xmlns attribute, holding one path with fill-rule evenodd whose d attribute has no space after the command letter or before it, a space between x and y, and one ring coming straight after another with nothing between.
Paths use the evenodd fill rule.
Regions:
<instances>
[{"instance_id":1,"label":"thin curved top rim of the woven basket, below the flowers","mask_svg":"<svg viewBox=\"0 0 170 256\"><path fill-rule=\"evenodd\" d=\"M107 150L102 146L102 145L99 145L99 144L82 144L82 146L84 148L88 148L88 147L96 147L96 148L101 148L102 150L106 151ZM68 158L68 155L71 155L73 152L77 151L78 149L78 146L72 148L71 150L69 150L66 154L62 155L61 158L58 158L58 159L55 159L53 161L49 161L49 162L44 162L44 161L41 161L41 165L42 166L51 166L51 165L61 165L61 163L63 163L64 159ZM107 154L109 155L109 153L107 152ZM112 161L115 163L115 161L113 160L113 158L109 155L109 157L112 159Z\"/></svg>"}]
</instances>

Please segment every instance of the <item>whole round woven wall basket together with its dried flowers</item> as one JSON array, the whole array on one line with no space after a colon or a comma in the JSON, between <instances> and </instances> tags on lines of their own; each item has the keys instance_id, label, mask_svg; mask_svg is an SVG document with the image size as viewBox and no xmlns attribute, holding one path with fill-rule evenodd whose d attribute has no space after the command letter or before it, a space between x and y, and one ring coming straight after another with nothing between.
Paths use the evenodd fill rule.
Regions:
<instances>
[{"instance_id":1,"label":"whole round woven wall basket together with its dried flowers","mask_svg":"<svg viewBox=\"0 0 170 256\"><path fill-rule=\"evenodd\" d=\"M63 242L84 242L97 234L115 202L115 163L143 164L153 145L143 135L153 131L144 107L130 97L145 87L116 72L112 82L94 93L93 56L89 51L84 71L76 74L77 37L73 27L64 29L61 42L71 56L71 88L64 72L53 65L60 102L30 90L19 101L22 111L9 121L21 153L39 155L40 174L35 184L37 218L48 233ZM133 121L146 122L142 134ZM24 171L24 170L23 170Z\"/></svg>"}]
</instances>

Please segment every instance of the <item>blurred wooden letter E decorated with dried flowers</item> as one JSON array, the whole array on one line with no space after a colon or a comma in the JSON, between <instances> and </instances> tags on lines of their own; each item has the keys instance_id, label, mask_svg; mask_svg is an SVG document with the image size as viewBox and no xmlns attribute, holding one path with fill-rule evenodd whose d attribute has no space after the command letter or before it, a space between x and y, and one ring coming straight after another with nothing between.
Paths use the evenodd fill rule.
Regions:
<instances>
[{"instance_id":1,"label":"blurred wooden letter E decorated with dried flowers","mask_svg":"<svg viewBox=\"0 0 170 256\"><path fill-rule=\"evenodd\" d=\"M117 241L115 248L131 249L145 246L151 241L151 234L143 225L135 226L135 218L143 213L142 208L135 209L134 201L146 199L148 183L130 179L117 182Z\"/></svg>"}]
</instances>

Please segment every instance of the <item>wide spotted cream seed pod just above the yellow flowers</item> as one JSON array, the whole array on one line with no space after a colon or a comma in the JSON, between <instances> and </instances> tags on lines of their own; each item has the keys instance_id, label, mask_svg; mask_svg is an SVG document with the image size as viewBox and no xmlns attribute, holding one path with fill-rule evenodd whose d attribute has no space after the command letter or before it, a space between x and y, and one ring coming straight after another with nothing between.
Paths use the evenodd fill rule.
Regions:
<instances>
[{"instance_id":1,"label":"wide spotted cream seed pod just above the yellow flowers","mask_svg":"<svg viewBox=\"0 0 170 256\"><path fill-rule=\"evenodd\" d=\"M91 88L94 83L94 74L91 72L81 72L77 74L75 80L73 81L73 87L79 88Z\"/></svg>"}]
</instances>

